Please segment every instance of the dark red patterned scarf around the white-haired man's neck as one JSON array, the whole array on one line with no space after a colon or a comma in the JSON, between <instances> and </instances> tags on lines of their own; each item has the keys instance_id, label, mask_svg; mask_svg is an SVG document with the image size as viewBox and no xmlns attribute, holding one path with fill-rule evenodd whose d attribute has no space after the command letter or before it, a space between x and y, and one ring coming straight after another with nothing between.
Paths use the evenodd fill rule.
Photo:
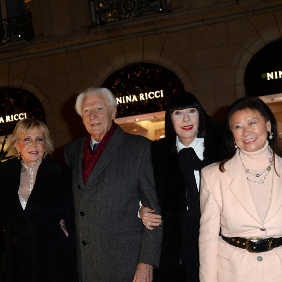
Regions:
<instances>
[{"instance_id":1,"label":"dark red patterned scarf around the white-haired man's neck","mask_svg":"<svg viewBox=\"0 0 282 282\"><path fill-rule=\"evenodd\" d=\"M102 152L104 151L106 144L108 143L108 141L114 134L116 128L117 128L117 124L113 122L111 128L106 133L106 135L103 137L103 139L100 141L97 149L94 152L92 152L92 149L90 146L91 135L88 132L86 133L86 139L84 143L83 157L82 157L82 176L83 176L84 184L87 182L92 169L94 168L99 157L101 156Z\"/></svg>"}]
</instances>

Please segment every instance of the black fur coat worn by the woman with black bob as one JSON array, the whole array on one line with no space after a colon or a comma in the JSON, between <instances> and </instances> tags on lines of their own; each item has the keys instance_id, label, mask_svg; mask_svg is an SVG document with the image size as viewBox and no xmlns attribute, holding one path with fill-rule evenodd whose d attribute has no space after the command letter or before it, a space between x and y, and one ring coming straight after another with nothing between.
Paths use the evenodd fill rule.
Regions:
<instances>
[{"instance_id":1,"label":"black fur coat worn by the woman with black bob","mask_svg":"<svg viewBox=\"0 0 282 282\"><path fill-rule=\"evenodd\" d=\"M210 122L209 134L204 138L203 165L219 161L224 158L222 150L222 132L218 123ZM152 163L156 190L161 206L163 220L163 240L160 259L160 269L155 273L157 282L184 281L183 269L180 262L180 247L182 244L182 218L186 211L186 185L180 172L176 142L169 142L165 138L152 142ZM193 199L199 209L199 194ZM199 232L200 212L195 214ZM158 228L157 228L158 229ZM198 235L197 235L198 236ZM191 254L195 258L198 254Z\"/></svg>"}]
</instances>

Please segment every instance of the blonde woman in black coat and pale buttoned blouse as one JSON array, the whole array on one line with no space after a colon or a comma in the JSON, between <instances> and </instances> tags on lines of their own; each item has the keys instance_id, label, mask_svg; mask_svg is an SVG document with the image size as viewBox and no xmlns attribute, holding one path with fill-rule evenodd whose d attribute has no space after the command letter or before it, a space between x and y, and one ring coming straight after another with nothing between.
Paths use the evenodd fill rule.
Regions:
<instances>
[{"instance_id":1,"label":"blonde woman in black coat and pale buttoned blouse","mask_svg":"<svg viewBox=\"0 0 282 282\"><path fill-rule=\"evenodd\" d=\"M51 159L47 126L17 123L8 139L17 157L0 162L0 226L5 282L77 282L71 169Z\"/></svg>"}]
</instances>

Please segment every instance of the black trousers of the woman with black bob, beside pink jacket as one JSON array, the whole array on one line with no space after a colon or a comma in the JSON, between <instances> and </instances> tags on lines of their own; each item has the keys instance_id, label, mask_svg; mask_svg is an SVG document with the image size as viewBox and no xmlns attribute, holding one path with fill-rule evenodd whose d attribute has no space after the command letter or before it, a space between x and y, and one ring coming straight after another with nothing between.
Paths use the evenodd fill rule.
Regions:
<instances>
[{"instance_id":1,"label":"black trousers of the woman with black bob, beside pink jacket","mask_svg":"<svg viewBox=\"0 0 282 282\"><path fill-rule=\"evenodd\" d=\"M199 223L195 216L186 218L180 250L185 282L199 282Z\"/></svg>"}]
</instances>

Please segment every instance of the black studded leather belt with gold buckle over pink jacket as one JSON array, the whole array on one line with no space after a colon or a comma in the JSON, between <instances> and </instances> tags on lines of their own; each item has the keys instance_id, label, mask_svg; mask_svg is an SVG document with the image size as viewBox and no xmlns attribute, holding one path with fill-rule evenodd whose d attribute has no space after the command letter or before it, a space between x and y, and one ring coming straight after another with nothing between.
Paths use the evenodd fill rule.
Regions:
<instances>
[{"instance_id":1,"label":"black studded leather belt with gold buckle over pink jacket","mask_svg":"<svg viewBox=\"0 0 282 282\"><path fill-rule=\"evenodd\" d=\"M268 252L272 249L279 247L282 245L282 237L280 238L267 238L262 239L258 237L251 237L251 238L242 238L242 237L225 237L221 235L222 239L229 243L232 246L246 249L248 252L251 253L262 253ZM252 240L256 240L257 242L253 242Z\"/></svg>"}]
</instances>

